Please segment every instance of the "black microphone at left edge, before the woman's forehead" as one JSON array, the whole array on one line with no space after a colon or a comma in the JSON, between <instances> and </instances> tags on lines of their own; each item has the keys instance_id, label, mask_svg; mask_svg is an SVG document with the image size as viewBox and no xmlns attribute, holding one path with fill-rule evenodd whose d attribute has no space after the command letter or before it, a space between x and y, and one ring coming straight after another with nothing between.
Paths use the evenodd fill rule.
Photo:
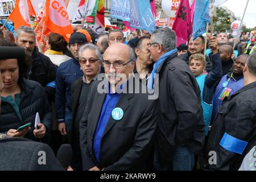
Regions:
<instances>
[{"instance_id":1,"label":"black microphone at left edge, before the woman's forehead","mask_svg":"<svg viewBox=\"0 0 256 182\"><path fill-rule=\"evenodd\" d=\"M25 50L22 47L0 46L0 59L19 59L25 56Z\"/></svg>"}]
</instances>

